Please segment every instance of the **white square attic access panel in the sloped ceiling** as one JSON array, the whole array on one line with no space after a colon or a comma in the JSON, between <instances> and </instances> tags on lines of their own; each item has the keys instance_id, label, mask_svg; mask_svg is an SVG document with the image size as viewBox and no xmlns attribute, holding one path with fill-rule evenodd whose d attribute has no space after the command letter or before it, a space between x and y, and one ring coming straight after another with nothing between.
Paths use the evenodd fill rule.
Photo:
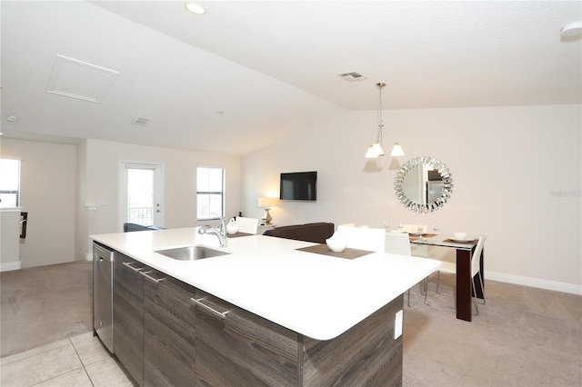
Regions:
<instances>
[{"instance_id":1,"label":"white square attic access panel in the sloped ceiling","mask_svg":"<svg viewBox=\"0 0 582 387\"><path fill-rule=\"evenodd\" d=\"M117 74L105 67L56 55L46 92L98 104L114 83Z\"/></svg>"}]
</instances>

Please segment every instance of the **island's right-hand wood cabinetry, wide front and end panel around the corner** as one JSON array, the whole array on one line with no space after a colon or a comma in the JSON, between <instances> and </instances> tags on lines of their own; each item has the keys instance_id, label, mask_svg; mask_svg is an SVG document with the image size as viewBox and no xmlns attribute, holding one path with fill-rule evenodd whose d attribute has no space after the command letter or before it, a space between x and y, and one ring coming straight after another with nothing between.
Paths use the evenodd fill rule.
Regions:
<instances>
[{"instance_id":1,"label":"island's right-hand wood cabinetry, wide front and end panel around the corner","mask_svg":"<svg viewBox=\"0 0 582 387\"><path fill-rule=\"evenodd\" d=\"M222 318L196 309L196 385L397 386L402 336L394 339L398 297L333 340L319 341L196 293Z\"/></svg>"}]
</instances>

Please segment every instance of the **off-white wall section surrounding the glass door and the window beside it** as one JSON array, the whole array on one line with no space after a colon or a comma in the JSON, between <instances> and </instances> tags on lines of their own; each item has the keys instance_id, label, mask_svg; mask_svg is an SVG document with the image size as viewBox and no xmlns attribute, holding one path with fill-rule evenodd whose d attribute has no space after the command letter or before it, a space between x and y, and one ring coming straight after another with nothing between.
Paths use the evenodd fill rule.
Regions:
<instances>
[{"instance_id":1,"label":"off-white wall section surrounding the glass door and the window beside it","mask_svg":"<svg viewBox=\"0 0 582 387\"><path fill-rule=\"evenodd\" d=\"M166 228L196 226L196 168L226 169L226 215L240 209L240 157L227 154L190 152L139 144L86 140L85 163L79 180L77 256L90 256L88 235L119 233L119 164L121 162L164 165ZM94 209L96 207L96 209Z\"/></svg>"}]
</instances>

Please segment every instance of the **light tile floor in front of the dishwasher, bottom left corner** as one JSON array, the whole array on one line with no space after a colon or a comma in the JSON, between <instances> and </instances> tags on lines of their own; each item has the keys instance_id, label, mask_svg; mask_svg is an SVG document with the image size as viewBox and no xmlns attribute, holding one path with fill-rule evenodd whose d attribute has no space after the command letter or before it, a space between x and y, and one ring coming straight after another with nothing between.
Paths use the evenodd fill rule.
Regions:
<instances>
[{"instance_id":1,"label":"light tile floor in front of the dishwasher, bottom left corner","mask_svg":"<svg viewBox=\"0 0 582 387\"><path fill-rule=\"evenodd\" d=\"M136 386L93 332L0 359L0 385Z\"/></svg>"}]
</instances>

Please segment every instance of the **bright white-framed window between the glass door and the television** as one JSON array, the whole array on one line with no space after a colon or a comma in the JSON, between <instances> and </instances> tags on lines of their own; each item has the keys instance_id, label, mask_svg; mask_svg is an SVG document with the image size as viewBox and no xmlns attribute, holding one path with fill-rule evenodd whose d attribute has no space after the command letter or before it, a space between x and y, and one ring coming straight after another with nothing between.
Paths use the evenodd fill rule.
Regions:
<instances>
[{"instance_id":1,"label":"bright white-framed window between the glass door and the television","mask_svg":"<svg viewBox=\"0 0 582 387\"><path fill-rule=\"evenodd\" d=\"M196 169L196 218L199 221L217 219L225 215L225 170L221 168Z\"/></svg>"}]
</instances>

